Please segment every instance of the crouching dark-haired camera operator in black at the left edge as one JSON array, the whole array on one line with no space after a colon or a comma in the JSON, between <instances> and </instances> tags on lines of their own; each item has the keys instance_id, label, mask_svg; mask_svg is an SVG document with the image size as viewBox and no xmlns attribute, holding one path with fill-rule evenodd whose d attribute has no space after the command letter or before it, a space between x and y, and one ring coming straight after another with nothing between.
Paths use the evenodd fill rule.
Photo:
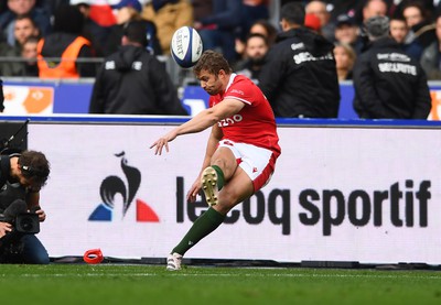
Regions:
<instances>
[{"instance_id":1,"label":"crouching dark-haired camera operator in black at the left edge","mask_svg":"<svg viewBox=\"0 0 441 305\"><path fill-rule=\"evenodd\" d=\"M0 155L0 263L47 264L49 254L34 233L17 230L14 220L34 213L44 221L40 189L46 184L50 164L36 151ZM37 224L37 222L36 222Z\"/></svg>"}]
</instances>

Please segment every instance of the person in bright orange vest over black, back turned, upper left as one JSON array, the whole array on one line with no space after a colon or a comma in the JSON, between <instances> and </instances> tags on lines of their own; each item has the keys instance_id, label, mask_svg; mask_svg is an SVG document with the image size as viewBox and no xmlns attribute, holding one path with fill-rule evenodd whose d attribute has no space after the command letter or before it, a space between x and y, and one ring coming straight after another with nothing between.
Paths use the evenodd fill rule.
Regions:
<instances>
[{"instance_id":1,"label":"person in bright orange vest over black, back turned, upper left","mask_svg":"<svg viewBox=\"0 0 441 305\"><path fill-rule=\"evenodd\" d=\"M94 77L93 63L78 63L78 58L93 58L90 42L82 36L84 17L77 7L61 6L54 15L54 33L39 42L40 78ZM60 59L57 59L60 58Z\"/></svg>"}]
</instances>

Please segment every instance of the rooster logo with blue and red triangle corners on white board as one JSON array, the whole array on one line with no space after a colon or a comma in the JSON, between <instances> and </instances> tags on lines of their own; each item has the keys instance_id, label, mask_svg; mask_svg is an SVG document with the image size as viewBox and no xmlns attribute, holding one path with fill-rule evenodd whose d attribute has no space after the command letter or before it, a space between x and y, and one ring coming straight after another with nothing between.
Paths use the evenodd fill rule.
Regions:
<instances>
[{"instance_id":1,"label":"rooster logo with blue and red triangle corners on white board","mask_svg":"<svg viewBox=\"0 0 441 305\"><path fill-rule=\"evenodd\" d=\"M122 219L127 213L133 210L130 208L132 203L136 205L137 222L159 222L159 217L154 210L143 200L136 198L137 192L141 184L141 172L133 166L128 165L126 153L115 154L120 159L120 165L125 179L117 175L107 176L99 187L101 203L95 208L89 216L89 221L112 221L116 205L116 197L120 195L122 198Z\"/></svg>"}]
</instances>

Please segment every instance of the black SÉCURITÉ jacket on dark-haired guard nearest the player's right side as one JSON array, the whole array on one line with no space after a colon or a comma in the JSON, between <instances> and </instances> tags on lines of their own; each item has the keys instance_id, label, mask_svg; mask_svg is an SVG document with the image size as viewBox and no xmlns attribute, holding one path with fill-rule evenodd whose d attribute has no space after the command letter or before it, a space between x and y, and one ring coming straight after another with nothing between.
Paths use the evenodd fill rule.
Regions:
<instances>
[{"instance_id":1,"label":"black S\u00c9CURIT\u00c9 jacket on dark-haired guard nearest the player's right side","mask_svg":"<svg viewBox=\"0 0 441 305\"><path fill-rule=\"evenodd\" d=\"M269 51L259 87L276 117L336 118L340 86L334 45L304 28L281 33Z\"/></svg>"}]
</instances>

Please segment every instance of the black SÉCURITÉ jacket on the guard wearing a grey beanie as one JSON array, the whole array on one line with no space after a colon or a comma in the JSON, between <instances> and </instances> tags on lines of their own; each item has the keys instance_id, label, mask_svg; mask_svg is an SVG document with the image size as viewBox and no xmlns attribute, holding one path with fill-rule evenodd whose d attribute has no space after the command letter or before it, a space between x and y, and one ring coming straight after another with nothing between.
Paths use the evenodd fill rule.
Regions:
<instances>
[{"instance_id":1,"label":"black S\u00c9CURIT\u00c9 jacket on the guard wearing a grey beanie","mask_svg":"<svg viewBox=\"0 0 441 305\"><path fill-rule=\"evenodd\" d=\"M354 108L365 119L427 119L431 99L426 74L392 39L379 39L353 69Z\"/></svg>"}]
</instances>

